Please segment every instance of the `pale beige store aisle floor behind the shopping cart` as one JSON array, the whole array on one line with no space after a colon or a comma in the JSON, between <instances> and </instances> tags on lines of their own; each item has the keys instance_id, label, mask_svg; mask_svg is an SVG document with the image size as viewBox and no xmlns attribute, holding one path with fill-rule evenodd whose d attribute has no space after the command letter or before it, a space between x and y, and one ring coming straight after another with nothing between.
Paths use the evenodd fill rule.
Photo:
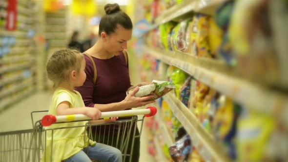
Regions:
<instances>
[{"instance_id":1,"label":"pale beige store aisle floor behind the shopping cart","mask_svg":"<svg viewBox=\"0 0 288 162\"><path fill-rule=\"evenodd\" d=\"M32 111L48 110L51 98L50 92L38 92L1 112L0 132L32 129L30 113ZM34 114L34 121L40 120L43 115L43 113ZM155 162L155 159L147 152L147 145L146 128L143 126L140 162Z\"/></svg>"}]
</instances>

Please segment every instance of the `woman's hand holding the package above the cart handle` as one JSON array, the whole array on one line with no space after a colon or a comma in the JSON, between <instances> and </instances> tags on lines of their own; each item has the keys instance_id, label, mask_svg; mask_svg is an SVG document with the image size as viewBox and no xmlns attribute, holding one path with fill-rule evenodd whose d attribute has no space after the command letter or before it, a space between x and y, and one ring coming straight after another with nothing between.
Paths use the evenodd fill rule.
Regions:
<instances>
[{"instance_id":1,"label":"woman's hand holding the package above the cart handle","mask_svg":"<svg viewBox=\"0 0 288 162\"><path fill-rule=\"evenodd\" d=\"M135 97L135 93L139 90L139 87L135 87L133 91L131 91L123 100L123 104L125 108L135 108L141 107L149 103L155 102L155 100L148 101L149 99L153 98L153 95L146 96L146 97Z\"/></svg>"}]
</instances>

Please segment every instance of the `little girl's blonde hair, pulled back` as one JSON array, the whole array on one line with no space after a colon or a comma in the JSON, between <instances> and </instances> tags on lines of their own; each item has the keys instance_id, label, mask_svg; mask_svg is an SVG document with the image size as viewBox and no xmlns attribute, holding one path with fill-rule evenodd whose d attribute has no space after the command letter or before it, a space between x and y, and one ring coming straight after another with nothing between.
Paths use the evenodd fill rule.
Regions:
<instances>
[{"instance_id":1,"label":"little girl's blonde hair, pulled back","mask_svg":"<svg viewBox=\"0 0 288 162\"><path fill-rule=\"evenodd\" d=\"M63 83L69 83L69 72L71 70L79 72L83 59L83 54L74 49L62 49L54 52L46 64L47 78L53 81L53 90Z\"/></svg>"}]
</instances>

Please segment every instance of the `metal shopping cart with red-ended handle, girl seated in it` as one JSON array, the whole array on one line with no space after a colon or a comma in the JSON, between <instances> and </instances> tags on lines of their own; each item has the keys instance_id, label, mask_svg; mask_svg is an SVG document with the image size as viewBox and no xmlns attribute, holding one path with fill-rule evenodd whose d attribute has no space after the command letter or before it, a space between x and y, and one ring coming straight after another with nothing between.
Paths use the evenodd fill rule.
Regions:
<instances>
[{"instance_id":1,"label":"metal shopping cart with red-ended handle, girl seated in it","mask_svg":"<svg viewBox=\"0 0 288 162\"><path fill-rule=\"evenodd\" d=\"M152 117L157 113L157 109L153 106L149 106L146 109L133 109L133 110L123 110L123 111L112 111L103 112L101 119L108 119L110 117L120 117L119 120L115 122L108 123L98 123L91 124L89 122L91 118L85 115L66 115L66 116L52 116L45 115L41 120L34 123L33 113L39 113L43 111L36 111L31 113L31 119L33 129L29 130L19 130L11 132L1 132L0 133L0 162L40 162L41 159L46 156L43 154L46 147L46 137L47 132L56 129L47 129L45 126L57 123L65 122L77 122L77 121L87 121L85 125L77 127L85 127L87 129L88 138L92 139L92 126L102 126L112 128L122 127L123 129L114 130L113 132L94 132L98 134L103 134L99 136L98 139L92 139L96 142L101 141L101 138L109 138L109 142L116 143L114 147L121 150L123 155L123 162L131 162L131 155L133 154L133 143L136 138L140 138L142 133L142 127L144 122L144 117ZM45 111L46 112L46 111ZM138 115L144 115L142 119L138 119ZM122 118L123 117L123 118ZM139 135L136 135L136 127L139 128ZM74 127L62 127L57 129L70 129ZM111 135L111 133L113 135ZM109 135L105 135L109 134ZM53 137L53 136L52 136ZM104 143L112 145L112 143ZM52 159L52 156L50 159ZM44 158L45 159L45 158ZM98 162L98 161L95 161Z\"/></svg>"}]
</instances>

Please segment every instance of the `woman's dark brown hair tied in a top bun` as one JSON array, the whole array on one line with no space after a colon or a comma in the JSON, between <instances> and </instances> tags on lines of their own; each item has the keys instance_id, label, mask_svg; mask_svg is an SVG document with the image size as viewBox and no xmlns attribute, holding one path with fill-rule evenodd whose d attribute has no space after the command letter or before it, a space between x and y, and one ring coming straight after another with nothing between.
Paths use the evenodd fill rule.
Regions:
<instances>
[{"instance_id":1,"label":"woman's dark brown hair tied in a top bun","mask_svg":"<svg viewBox=\"0 0 288 162\"><path fill-rule=\"evenodd\" d=\"M120 9L119 4L106 4L104 6L106 14L101 18L99 24L99 37L101 33L105 32L107 35L115 33L118 28L117 25L121 25L124 29L130 30L133 28L133 24L129 16Z\"/></svg>"}]
</instances>

